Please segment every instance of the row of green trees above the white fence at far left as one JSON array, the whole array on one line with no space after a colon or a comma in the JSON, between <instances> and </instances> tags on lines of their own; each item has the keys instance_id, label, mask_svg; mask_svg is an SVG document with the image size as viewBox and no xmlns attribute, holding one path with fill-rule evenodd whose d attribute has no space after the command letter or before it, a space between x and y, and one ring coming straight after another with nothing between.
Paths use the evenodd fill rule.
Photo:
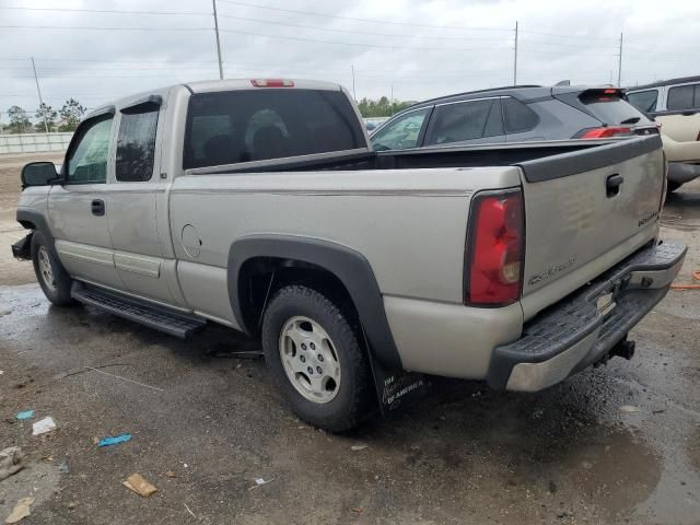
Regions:
<instances>
[{"instance_id":1,"label":"row of green trees above the white fence at far left","mask_svg":"<svg viewBox=\"0 0 700 525\"><path fill-rule=\"evenodd\" d=\"M56 110L46 103L42 103L36 109L35 124L32 125L26 109L20 106L11 106L8 109L9 124L4 125L4 131L10 133L43 133L49 131L75 131L80 120L85 115L85 106L75 98L69 98L63 106ZM59 119L60 117L60 119Z\"/></svg>"}]
</instances>

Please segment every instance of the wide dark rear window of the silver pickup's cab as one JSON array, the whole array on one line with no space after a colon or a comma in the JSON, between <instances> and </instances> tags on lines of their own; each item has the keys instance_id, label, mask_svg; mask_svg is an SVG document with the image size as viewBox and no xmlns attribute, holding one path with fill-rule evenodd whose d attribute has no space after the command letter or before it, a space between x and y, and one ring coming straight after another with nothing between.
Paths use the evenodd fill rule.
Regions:
<instances>
[{"instance_id":1,"label":"wide dark rear window of the silver pickup's cab","mask_svg":"<svg viewBox=\"0 0 700 525\"><path fill-rule=\"evenodd\" d=\"M184 167L365 147L354 108L341 91L200 93L189 100Z\"/></svg>"}]
</instances>

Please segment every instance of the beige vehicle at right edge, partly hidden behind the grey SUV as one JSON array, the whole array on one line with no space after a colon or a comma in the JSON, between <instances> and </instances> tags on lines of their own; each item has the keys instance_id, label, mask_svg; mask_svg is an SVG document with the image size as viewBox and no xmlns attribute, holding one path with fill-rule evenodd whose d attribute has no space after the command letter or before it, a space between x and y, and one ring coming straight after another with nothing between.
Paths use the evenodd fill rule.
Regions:
<instances>
[{"instance_id":1,"label":"beige vehicle at right edge, partly hidden behind the grey SUV","mask_svg":"<svg viewBox=\"0 0 700 525\"><path fill-rule=\"evenodd\" d=\"M668 190L700 176L700 77L628 88L634 107L661 124Z\"/></svg>"}]
</instances>

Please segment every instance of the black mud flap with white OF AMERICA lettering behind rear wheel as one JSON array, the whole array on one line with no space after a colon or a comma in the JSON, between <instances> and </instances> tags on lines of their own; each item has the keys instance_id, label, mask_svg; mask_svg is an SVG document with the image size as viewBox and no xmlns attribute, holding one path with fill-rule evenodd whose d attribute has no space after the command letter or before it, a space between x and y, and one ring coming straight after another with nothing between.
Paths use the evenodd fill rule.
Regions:
<instances>
[{"instance_id":1,"label":"black mud flap with white OF AMERICA lettering behind rear wheel","mask_svg":"<svg viewBox=\"0 0 700 525\"><path fill-rule=\"evenodd\" d=\"M364 335L364 330L363 335ZM365 348L370 355L370 366L372 368L372 378L376 389L377 400L382 417L388 418L398 411L399 408L410 406L425 397L430 382L425 374L406 372L405 370L389 370L382 364L371 350L366 336L364 337Z\"/></svg>"}]
</instances>

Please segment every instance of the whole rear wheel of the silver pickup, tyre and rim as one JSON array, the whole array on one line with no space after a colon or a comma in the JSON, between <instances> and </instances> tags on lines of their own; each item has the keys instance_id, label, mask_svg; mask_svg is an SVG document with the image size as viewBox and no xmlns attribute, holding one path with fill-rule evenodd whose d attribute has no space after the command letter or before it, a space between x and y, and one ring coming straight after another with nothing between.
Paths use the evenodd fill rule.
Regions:
<instances>
[{"instance_id":1,"label":"whole rear wheel of the silver pickup, tyre and rim","mask_svg":"<svg viewBox=\"0 0 700 525\"><path fill-rule=\"evenodd\" d=\"M325 295L302 285L281 289L265 312L262 348L300 418L341 432L370 416L373 386L358 331Z\"/></svg>"}]
</instances>

